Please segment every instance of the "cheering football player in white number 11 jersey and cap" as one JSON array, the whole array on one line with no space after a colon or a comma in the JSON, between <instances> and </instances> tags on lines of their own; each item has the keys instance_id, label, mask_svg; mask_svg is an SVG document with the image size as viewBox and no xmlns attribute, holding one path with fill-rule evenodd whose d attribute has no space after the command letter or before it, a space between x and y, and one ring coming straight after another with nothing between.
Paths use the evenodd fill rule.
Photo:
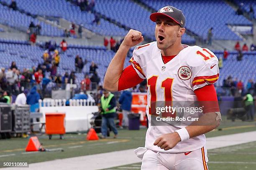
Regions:
<instances>
[{"instance_id":1,"label":"cheering football player in white number 11 jersey and cap","mask_svg":"<svg viewBox=\"0 0 256 170\"><path fill-rule=\"evenodd\" d=\"M130 30L108 66L103 87L120 91L147 80L149 125L145 147L135 150L142 159L141 170L207 170L204 134L218 127L221 120L213 85L219 77L218 58L206 48L181 43L186 19L176 7L162 7L150 15L150 20L156 23L156 41L138 45L143 42L142 33ZM126 55L135 45L131 65L123 70ZM197 112L197 119L187 120L192 112L159 113L157 109L165 110L164 106L156 107L161 101L166 107L177 103L179 109L184 109L179 101L199 101L202 110ZM159 120L177 116L186 121L174 124Z\"/></svg>"}]
</instances>

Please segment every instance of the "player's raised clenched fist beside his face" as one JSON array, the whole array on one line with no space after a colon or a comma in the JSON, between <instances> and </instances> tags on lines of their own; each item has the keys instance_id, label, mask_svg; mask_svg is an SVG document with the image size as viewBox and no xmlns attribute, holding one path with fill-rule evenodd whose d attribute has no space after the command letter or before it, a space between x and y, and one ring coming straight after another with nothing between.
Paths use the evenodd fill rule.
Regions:
<instances>
[{"instance_id":1,"label":"player's raised clenched fist beside his face","mask_svg":"<svg viewBox=\"0 0 256 170\"><path fill-rule=\"evenodd\" d=\"M133 47L137 45L138 43L142 42L143 36L141 35L141 32L136 30L129 30L128 34L125 36L122 44L128 47Z\"/></svg>"}]
</instances>

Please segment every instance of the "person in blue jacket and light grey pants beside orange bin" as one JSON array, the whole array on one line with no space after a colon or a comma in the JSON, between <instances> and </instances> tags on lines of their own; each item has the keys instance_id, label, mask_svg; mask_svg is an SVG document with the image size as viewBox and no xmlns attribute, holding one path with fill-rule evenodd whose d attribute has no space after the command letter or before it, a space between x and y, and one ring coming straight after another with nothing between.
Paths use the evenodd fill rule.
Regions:
<instances>
[{"instance_id":1,"label":"person in blue jacket and light grey pants beside orange bin","mask_svg":"<svg viewBox=\"0 0 256 170\"><path fill-rule=\"evenodd\" d=\"M127 90L123 90L123 93L121 94L120 98L119 98L119 103L121 105L121 109L122 109L122 113L123 113L123 122L122 122L122 126L128 127L129 125L129 120L128 120L128 115L131 112L131 102L132 102L132 94L131 91L129 89Z\"/></svg>"}]
</instances>

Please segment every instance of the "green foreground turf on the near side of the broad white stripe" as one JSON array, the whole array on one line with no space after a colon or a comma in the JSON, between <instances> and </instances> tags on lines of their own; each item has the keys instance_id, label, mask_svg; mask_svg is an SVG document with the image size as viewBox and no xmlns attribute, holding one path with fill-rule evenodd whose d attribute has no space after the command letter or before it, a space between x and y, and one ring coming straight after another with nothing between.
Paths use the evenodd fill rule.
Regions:
<instances>
[{"instance_id":1,"label":"green foreground turf on the near side of the broad white stripe","mask_svg":"<svg viewBox=\"0 0 256 170\"><path fill-rule=\"evenodd\" d=\"M208 150L209 170L256 170L256 142ZM141 163L104 170L140 170Z\"/></svg>"}]
</instances>

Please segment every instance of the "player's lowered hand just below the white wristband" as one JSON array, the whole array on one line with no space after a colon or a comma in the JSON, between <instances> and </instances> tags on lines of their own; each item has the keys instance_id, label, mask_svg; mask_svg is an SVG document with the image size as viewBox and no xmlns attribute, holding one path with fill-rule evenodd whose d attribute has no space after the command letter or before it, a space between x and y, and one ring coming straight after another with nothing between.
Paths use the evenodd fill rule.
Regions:
<instances>
[{"instance_id":1,"label":"player's lowered hand just below the white wristband","mask_svg":"<svg viewBox=\"0 0 256 170\"><path fill-rule=\"evenodd\" d=\"M166 133L157 138L154 145L157 145L161 149L169 150L174 148L174 146L176 146L179 141L181 141L181 139L177 132Z\"/></svg>"}]
</instances>

